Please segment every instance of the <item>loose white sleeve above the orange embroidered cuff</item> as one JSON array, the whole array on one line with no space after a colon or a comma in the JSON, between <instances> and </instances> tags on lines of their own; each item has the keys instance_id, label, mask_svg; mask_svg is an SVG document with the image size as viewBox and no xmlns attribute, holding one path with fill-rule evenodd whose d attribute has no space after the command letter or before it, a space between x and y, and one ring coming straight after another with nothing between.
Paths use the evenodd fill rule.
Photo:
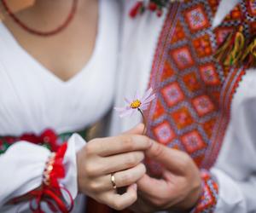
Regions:
<instances>
[{"instance_id":1,"label":"loose white sleeve above the orange embroidered cuff","mask_svg":"<svg viewBox=\"0 0 256 213\"><path fill-rule=\"evenodd\" d=\"M218 181L218 213L256 212L256 70L237 89L231 120L212 175Z\"/></svg>"}]
</instances>

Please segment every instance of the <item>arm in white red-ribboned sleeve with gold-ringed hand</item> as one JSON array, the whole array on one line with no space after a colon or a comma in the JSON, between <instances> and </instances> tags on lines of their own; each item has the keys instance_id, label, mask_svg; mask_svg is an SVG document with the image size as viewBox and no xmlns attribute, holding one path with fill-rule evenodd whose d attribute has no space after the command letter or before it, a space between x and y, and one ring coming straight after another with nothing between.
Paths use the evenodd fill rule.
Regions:
<instances>
[{"instance_id":1,"label":"arm in white red-ribboned sleeve with gold-ringed hand","mask_svg":"<svg viewBox=\"0 0 256 213\"><path fill-rule=\"evenodd\" d=\"M73 135L68 140L63 161L61 158L56 159L63 164L65 175L55 185L67 189L61 190L67 203L74 199L79 191L118 210L133 204L137 199L135 182L146 171L141 163L144 158L143 151L151 145L148 137L136 135L141 134L143 129L143 125L138 125L126 134L94 139L86 146L79 135ZM58 153L59 151L56 156ZM54 184L50 184L46 187L49 189L47 191L42 184L44 170L50 168L50 154L44 147L20 141L0 156L0 170L6 170L3 176L0 176L3 183L0 187L0 208L7 207L3 205L12 201L18 201L19 204L19 201L31 199L31 195L36 193L38 196L38 192L44 192L42 195L48 198L50 187L56 188ZM57 169L60 171L60 168ZM55 174L55 169L52 172ZM128 187L126 193L116 193L111 181L112 175L117 187ZM17 206L9 206L15 207Z\"/></svg>"}]
</instances>

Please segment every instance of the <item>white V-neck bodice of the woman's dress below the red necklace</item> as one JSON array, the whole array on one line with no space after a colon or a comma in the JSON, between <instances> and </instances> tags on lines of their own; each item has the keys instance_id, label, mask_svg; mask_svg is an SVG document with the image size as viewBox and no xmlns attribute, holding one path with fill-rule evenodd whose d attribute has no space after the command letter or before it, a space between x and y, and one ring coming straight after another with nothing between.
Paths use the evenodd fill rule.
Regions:
<instances>
[{"instance_id":1,"label":"white V-neck bodice of the woman's dress below the red necklace","mask_svg":"<svg viewBox=\"0 0 256 213\"><path fill-rule=\"evenodd\" d=\"M79 130L108 112L118 58L119 13L114 2L102 3L93 54L67 81L49 72L0 25L0 135L39 133L45 128ZM49 58L58 60L57 55ZM65 59L73 62L68 55Z\"/></svg>"}]
</instances>

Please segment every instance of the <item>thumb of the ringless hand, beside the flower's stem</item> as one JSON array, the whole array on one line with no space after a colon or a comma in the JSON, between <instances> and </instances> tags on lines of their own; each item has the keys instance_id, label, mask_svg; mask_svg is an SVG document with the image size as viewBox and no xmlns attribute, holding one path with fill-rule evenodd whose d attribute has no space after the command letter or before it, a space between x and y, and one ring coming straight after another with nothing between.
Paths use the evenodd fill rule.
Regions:
<instances>
[{"instance_id":1,"label":"thumb of the ringless hand, beside the flower's stem","mask_svg":"<svg viewBox=\"0 0 256 213\"><path fill-rule=\"evenodd\" d=\"M186 153L165 147L155 141L153 141L151 147L146 150L145 155L163 164L166 169L177 173L184 173L184 169L189 163L189 157Z\"/></svg>"}]
</instances>

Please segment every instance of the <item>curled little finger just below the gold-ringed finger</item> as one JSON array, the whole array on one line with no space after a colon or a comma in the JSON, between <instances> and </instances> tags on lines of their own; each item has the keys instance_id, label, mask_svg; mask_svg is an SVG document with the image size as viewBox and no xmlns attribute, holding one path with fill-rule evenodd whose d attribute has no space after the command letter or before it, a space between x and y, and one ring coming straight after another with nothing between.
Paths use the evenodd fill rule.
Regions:
<instances>
[{"instance_id":1,"label":"curled little finger just below the gold-ringed finger","mask_svg":"<svg viewBox=\"0 0 256 213\"><path fill-rule=\"evenodd\" d=\"M103 194L103 202L115 210L124 210L137 200L137 184L127 187L123 194L108 192Z\"/></svg>"}]
</instances>

